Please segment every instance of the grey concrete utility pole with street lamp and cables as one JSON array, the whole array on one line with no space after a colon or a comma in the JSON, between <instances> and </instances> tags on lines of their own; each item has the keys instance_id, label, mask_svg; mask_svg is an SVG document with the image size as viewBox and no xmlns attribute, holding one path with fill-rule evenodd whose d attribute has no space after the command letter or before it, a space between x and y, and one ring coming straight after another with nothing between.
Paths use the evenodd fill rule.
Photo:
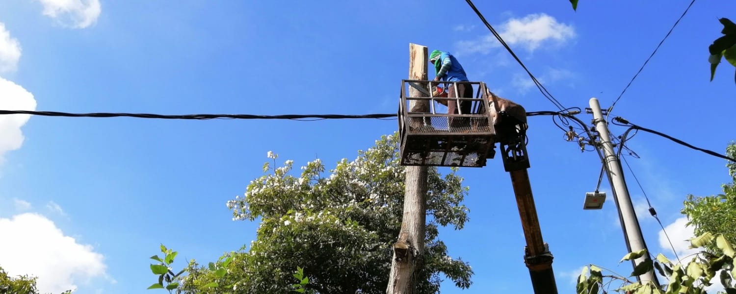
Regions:
<instances>
[{"instance_id":1,"label":"grey concrete utility pole with street lamp and cables","mask_svg":"<svg viewBox=\"0 0 736 294\"><path fill-rule=\"evenodd\" d=\"M601 135L601 146L604 151L605 167L606 172L609 174L609 180L611 181L611 187L613 189L613 196L616 200L616 207L621 218L621 226L626 238L626 247L629 252L640 251L646 249L646 243L644 242L644 236L639 226L639 220L637 214L634 212L634 206L631 205L631 196L629 196L629 188L626 187L626 182L623 181L623 170L621 168L621 162L613 150L613 143L611 142L611 135L608 132L608 123L603 116L601 111L601 104L598 104L597 98L590 98L590 109L593 112L593 123L595 129ZM641 262L649 259L649 255L645 255L634 260L634 267L639 265ZM659 287L659 281L657 276L654 275L654 270L644 273L639 276L642 284L646 282L654 282Z\"/></svg>"}]
</instances>

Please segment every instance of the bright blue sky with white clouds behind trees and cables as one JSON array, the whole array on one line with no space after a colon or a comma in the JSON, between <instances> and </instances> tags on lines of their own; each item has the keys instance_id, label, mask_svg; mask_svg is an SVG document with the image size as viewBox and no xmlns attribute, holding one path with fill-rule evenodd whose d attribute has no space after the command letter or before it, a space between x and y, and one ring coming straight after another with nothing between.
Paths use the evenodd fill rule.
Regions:
<instances>
[{"instance_id":1,"label":"bright blue sky with white clouds behind trees and cables","mask_svg":"<svg viewBox=\"0 0 736 294\"><path fill-rule=\"evenodd\" d=\"M689 3L588 0L578 12L567 1L476 5L562 104L588 107L595 96L608 107ZM733 11L733 1L696 2L614 115L723 153L736 139L736 86L727 64L709 82L707 46L720 36L717 18L736 18L723 13ZM471 80L529 111L554 109L464 1L10 0L0 2L0 23L0 108L7 110L394 113L408 43L456 54ZM297 165L319 157L329 167L397 127L26 119L0 118L0 236L9 240L0 242L0 265L40 276L41 290L74 285L77 293L144 293L155 282L146 258L159 243L200 261L250 243L258 224L231 221L225 202L261 175L267 151ZM562 140L549 117L529 124L529 174L560 292L572 292L573 276L591 262L628 273L629 264L617 263L626 246L612 198L602 210L581 209L600 160ZM645 133L629 146L641 157L629 163L670 237L689 237L682 201L718 193L729 180L725 162ZM500 159L460 173L470 186L470 222L440 237L473 266L474 283L461 291L447 282L442 292L531 293ZM642 193L629 184L645 212ZM671 256L657 222L640 219L651 251Z\"/></svg>"}]
</instances>

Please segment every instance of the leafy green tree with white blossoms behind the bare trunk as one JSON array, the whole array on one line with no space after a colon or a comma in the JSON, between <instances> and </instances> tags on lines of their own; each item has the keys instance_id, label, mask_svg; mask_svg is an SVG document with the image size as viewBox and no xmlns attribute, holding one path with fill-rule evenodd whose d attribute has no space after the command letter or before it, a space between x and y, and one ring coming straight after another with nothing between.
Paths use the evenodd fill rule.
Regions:
<instances>
[{"instance_id":1,"label":"leafy green tree with white blossoms behind the bare trunk","mask_svg":"<svg viewBox=\"0 0 736 294\"><path fill-rule=\"evenodd\" d=\"M397 135L381 137L353 161L342 159L327 177L319 159L292 174L291 160L279 167L277 155L268 157L266 174L250 182L244 198L227 202L233 220L260 221L256 240L249 250L230 255L224 278L191 264L181 290L202 293L203 285L217 282L224 286L206 293L386 293L391 246L403 214L405 175ZM417 278L417 293L438 293L440 275L470 287L470 266L447 256L438 239L438 226L462 229L467 221L461 203L468 189L461 181L456 170L445 176L436 168L429 171L425 270ZM299 284L305 282L299 288L297 267L303 267L297 270Z\"/></svg>"}]
</instances>

